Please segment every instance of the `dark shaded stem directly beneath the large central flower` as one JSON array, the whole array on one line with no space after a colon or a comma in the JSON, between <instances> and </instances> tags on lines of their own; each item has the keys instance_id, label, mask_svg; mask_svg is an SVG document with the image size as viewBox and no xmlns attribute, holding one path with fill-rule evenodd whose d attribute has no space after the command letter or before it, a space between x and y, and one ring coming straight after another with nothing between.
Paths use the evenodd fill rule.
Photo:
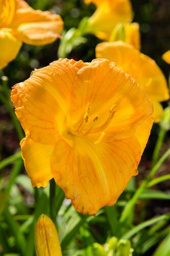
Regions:
<instances>
[{"instance_id":1,"label":"dark shaded stem directly beneath the large central flower","mask_svg":"<svg viewBox=\"0 0 170 256\"><path fill-rule=\"evenodd\" d=\"M56 193L56 183L55 180L50 180L50 217L54 223L56 223L56 212L54 209L55 205L55 193Z\"/></svg>"}]
</instances>

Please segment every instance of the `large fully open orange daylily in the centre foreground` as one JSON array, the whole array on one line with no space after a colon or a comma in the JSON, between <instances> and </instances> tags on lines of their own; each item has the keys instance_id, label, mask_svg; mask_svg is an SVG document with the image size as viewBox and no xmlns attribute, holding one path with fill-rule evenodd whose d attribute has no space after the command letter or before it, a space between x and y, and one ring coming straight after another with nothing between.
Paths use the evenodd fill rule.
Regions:
<instances>
[{"instance_id":1,"label":"large fully open orange daylily in the centre foreground","mask_svg":"<svg viewBox=\"0 0 170 256\"><path fill-rule=\"evenodd\" d=\"M52 178L83 214L115 204L152 127L152 103L113 62L59 59L12 89L33 186Z\"/></svg>"}]
</instances>

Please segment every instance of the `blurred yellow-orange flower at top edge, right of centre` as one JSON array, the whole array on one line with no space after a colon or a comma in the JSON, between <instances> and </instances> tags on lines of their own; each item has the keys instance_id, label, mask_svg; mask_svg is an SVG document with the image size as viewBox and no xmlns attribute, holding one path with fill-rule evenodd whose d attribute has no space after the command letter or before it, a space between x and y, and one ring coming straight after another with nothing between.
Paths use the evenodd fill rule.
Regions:
<instances>
[{"instance_id":1,"label":"blurred yellow-orange flower at top edge, right of centre","mask_svg":"<svg viewBox=\"0 0 170 256\"><path fill-rule=\"evenodd\" d=\"M118 23L132 21L132 5L129 0L102 1L88 19L87 32L111 34Z\"/></svg>"}]
</instances>

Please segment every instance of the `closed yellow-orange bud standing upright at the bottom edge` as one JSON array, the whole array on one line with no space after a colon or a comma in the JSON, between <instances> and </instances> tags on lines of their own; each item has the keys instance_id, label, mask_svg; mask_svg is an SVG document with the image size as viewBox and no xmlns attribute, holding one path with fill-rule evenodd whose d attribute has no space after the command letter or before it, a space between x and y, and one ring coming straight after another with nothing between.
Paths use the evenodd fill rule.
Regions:
<instances>
[{"instance_id":1,"label":"closed yellow-orange bud standing upright at the bottom edge","mask_svg":"<svg viewBox=\"0 0 170 256\"><path fill-rule=\"evenodd\" d=\"M35 227L35 249L37 256L62 256L57 229L53 221L43 214Z\"/></svg>"}]
</instances>

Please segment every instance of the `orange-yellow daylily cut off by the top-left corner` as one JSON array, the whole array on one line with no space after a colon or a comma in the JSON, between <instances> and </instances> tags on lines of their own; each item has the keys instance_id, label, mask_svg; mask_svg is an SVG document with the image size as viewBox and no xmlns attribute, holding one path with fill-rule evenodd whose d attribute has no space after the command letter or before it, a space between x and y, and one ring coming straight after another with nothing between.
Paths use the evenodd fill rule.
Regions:
<instances>
[{"instance_id":1,"label":"orange-yellow daylily cut off by the top-left corner","mask_svg":"<svg viewBox=\"0 0 170 256\"><path fill-rule=\"evenodd\" d=\"M12 61L22 45L46 45L62 32L59 15L34 10L23 0L0 0L0 69Z\"/></svg>"}]
</instances>

